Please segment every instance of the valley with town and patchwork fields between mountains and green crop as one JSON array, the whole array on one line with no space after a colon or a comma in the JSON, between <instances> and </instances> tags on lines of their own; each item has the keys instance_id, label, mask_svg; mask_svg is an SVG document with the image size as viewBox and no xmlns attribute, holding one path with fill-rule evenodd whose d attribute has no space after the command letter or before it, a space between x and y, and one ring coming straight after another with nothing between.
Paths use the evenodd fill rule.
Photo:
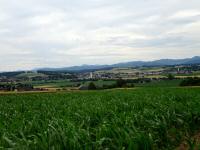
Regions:
<instances>
[{"instance_id":1,"label":"valley with town and patchwork fields between mountains and green crop","mask_svg":"<svg viewBox=\"0 0 200 150\"><path fill-rule=\"evenodd\" d=\"M0 73L0 91L49 91L88 89L89 82L98 89L116 87L125 80L133 84L152 81L199 78L200 65L117 67L84 71L20 71Z\"/></svg>"}]
</instances>

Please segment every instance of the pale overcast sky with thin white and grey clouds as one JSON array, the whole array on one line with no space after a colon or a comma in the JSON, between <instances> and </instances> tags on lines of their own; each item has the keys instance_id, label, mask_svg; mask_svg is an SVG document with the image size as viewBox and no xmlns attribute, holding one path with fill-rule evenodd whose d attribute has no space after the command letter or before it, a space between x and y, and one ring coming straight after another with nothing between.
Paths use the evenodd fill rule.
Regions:
<instances>
[{"instance_id":1,"label":"pale overcast sky with thin white and grey clouds","mask_svg":"<svg viewBox=\"0 0 200 150\"><path fill-rule=\"evenodd\" d=\"M0 0L0 71L200 56L200 0Z\"/></svg>"}]
</instances>

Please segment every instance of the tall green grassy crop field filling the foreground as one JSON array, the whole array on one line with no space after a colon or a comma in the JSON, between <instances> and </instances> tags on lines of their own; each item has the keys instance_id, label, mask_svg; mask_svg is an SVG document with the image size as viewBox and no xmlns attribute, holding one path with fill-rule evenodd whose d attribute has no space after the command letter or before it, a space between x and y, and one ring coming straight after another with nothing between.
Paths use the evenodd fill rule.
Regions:
<instances>
[{"instance_id":1,"label":"tall green grassy crop field filling the foreground","mask_svg":"<svg viewBox=\"0 0 200 150\"><path fill-rule=\"evenodd\" d=\"M200 88L0 95L0 149L175 149L199 131Z\"/></svg>"}]
</instances>

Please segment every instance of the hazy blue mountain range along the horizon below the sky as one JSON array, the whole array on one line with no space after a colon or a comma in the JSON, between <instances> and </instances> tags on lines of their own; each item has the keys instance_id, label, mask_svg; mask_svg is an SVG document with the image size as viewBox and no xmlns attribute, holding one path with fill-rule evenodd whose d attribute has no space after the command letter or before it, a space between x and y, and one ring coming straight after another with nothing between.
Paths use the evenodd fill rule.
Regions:
<instances>
[{"instance_id":1,"label":"hazy blue mountain range along the horizon below the sky","mask_svg":"<svg viewBox=\"0 0 200 150\"><path fill-rule=\"evenodd\" d=\"M63 68L41 68L37 70L42 71L93 71L102 69L112 69L119 67L153 67L153 66L173 66L173 65L190 65L190 64L200 64L200 56L195 56L192 58L185 59L160 59L155 61L131 61L125 63L118 63L113 65L82 65L82 66L72 66Z\"/></svg>"}]
</instances>

